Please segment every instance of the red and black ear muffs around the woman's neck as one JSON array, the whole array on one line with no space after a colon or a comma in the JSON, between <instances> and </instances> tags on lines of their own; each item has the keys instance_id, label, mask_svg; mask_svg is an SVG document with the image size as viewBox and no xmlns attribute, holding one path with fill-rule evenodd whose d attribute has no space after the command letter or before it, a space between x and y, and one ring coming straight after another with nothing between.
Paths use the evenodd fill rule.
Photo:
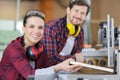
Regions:
<instances>
[{"instance_id":1,"label":"red and black ear muffs around the woman's neck","mask_svg":"<svg viewBox=\"0 0 120 80\"><path fill-rule=\"evenodd\" d=\"M26 49L26 55L30 60L35 60L43 51L43 45L41 46L29 46Z\"/></svg>"}]
</instances>

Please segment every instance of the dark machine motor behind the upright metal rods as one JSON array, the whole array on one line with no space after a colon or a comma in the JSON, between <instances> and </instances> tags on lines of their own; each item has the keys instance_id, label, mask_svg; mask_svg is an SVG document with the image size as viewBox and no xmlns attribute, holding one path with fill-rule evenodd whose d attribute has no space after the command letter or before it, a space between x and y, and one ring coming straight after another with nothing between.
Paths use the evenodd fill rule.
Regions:
<instances>
[{"instance_id":1,"label":"dark machine motor behind the upright metal rods","mask_svg":"<svg viewBox=\"0 0 120 80\"><path fill-rule=\"evenodd\" d=\"M118 34L120 27L115 27L114 31L112 32L113 40L114 40L114 46L118 46ZM111 31L110 31L111 34ZM112 39L112 37L110 37ZM111 42L111 41L110 41ZM107 22L103 21L100 23L100 27L98 30L98 46L107 47ZM112 46L112 44L110 44Z\"/></svg>"}]
</instances>

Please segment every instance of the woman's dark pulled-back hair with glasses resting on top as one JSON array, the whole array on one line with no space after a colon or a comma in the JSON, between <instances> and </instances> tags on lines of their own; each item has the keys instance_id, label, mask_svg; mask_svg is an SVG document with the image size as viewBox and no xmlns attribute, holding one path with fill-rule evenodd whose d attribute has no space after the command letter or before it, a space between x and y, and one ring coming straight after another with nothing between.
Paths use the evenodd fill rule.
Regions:
<instances>
[{"instance_id":1,"label":"woman's dark pulled-back hair with glasses resting on top","mask_svg":"<svg viewBox=\"0 0 120 80\"><path fill-rule=\"evenodd\" d=\"M29 18L29 17L32 17L32 16L37 16L37 17L40 17L41 19L45 19L45 14L40 11L40 10L28 10L25 14L25 17L24 17L24 20L23 20L23 25L25 26L26 24L26 20Z\"/></svg>"}]
</instances>

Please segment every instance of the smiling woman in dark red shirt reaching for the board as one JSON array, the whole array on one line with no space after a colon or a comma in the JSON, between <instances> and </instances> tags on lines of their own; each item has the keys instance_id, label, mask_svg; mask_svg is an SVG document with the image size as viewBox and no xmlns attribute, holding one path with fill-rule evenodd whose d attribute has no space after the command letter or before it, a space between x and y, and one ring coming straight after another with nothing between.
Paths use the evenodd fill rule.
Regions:
<instances>
[{"instance_id":1,"label":"smiling woman in dark red shirt reaching for the board","mask_svg":"<svg viewBox=\"0 0 120 80\"><path fill-rule=\"evenodd\" d=\"M45 70L54 74L61 70L76 72L80 69L79 65L69 65L70 61L74 61L72 58L46 68L49 64L41 42L44 17L38 10L29 10L25 14L22 27L24 35L13 40L3 52L0 80L26 80L28 75L40 75Z\"/></svg>"}]
</instances>

